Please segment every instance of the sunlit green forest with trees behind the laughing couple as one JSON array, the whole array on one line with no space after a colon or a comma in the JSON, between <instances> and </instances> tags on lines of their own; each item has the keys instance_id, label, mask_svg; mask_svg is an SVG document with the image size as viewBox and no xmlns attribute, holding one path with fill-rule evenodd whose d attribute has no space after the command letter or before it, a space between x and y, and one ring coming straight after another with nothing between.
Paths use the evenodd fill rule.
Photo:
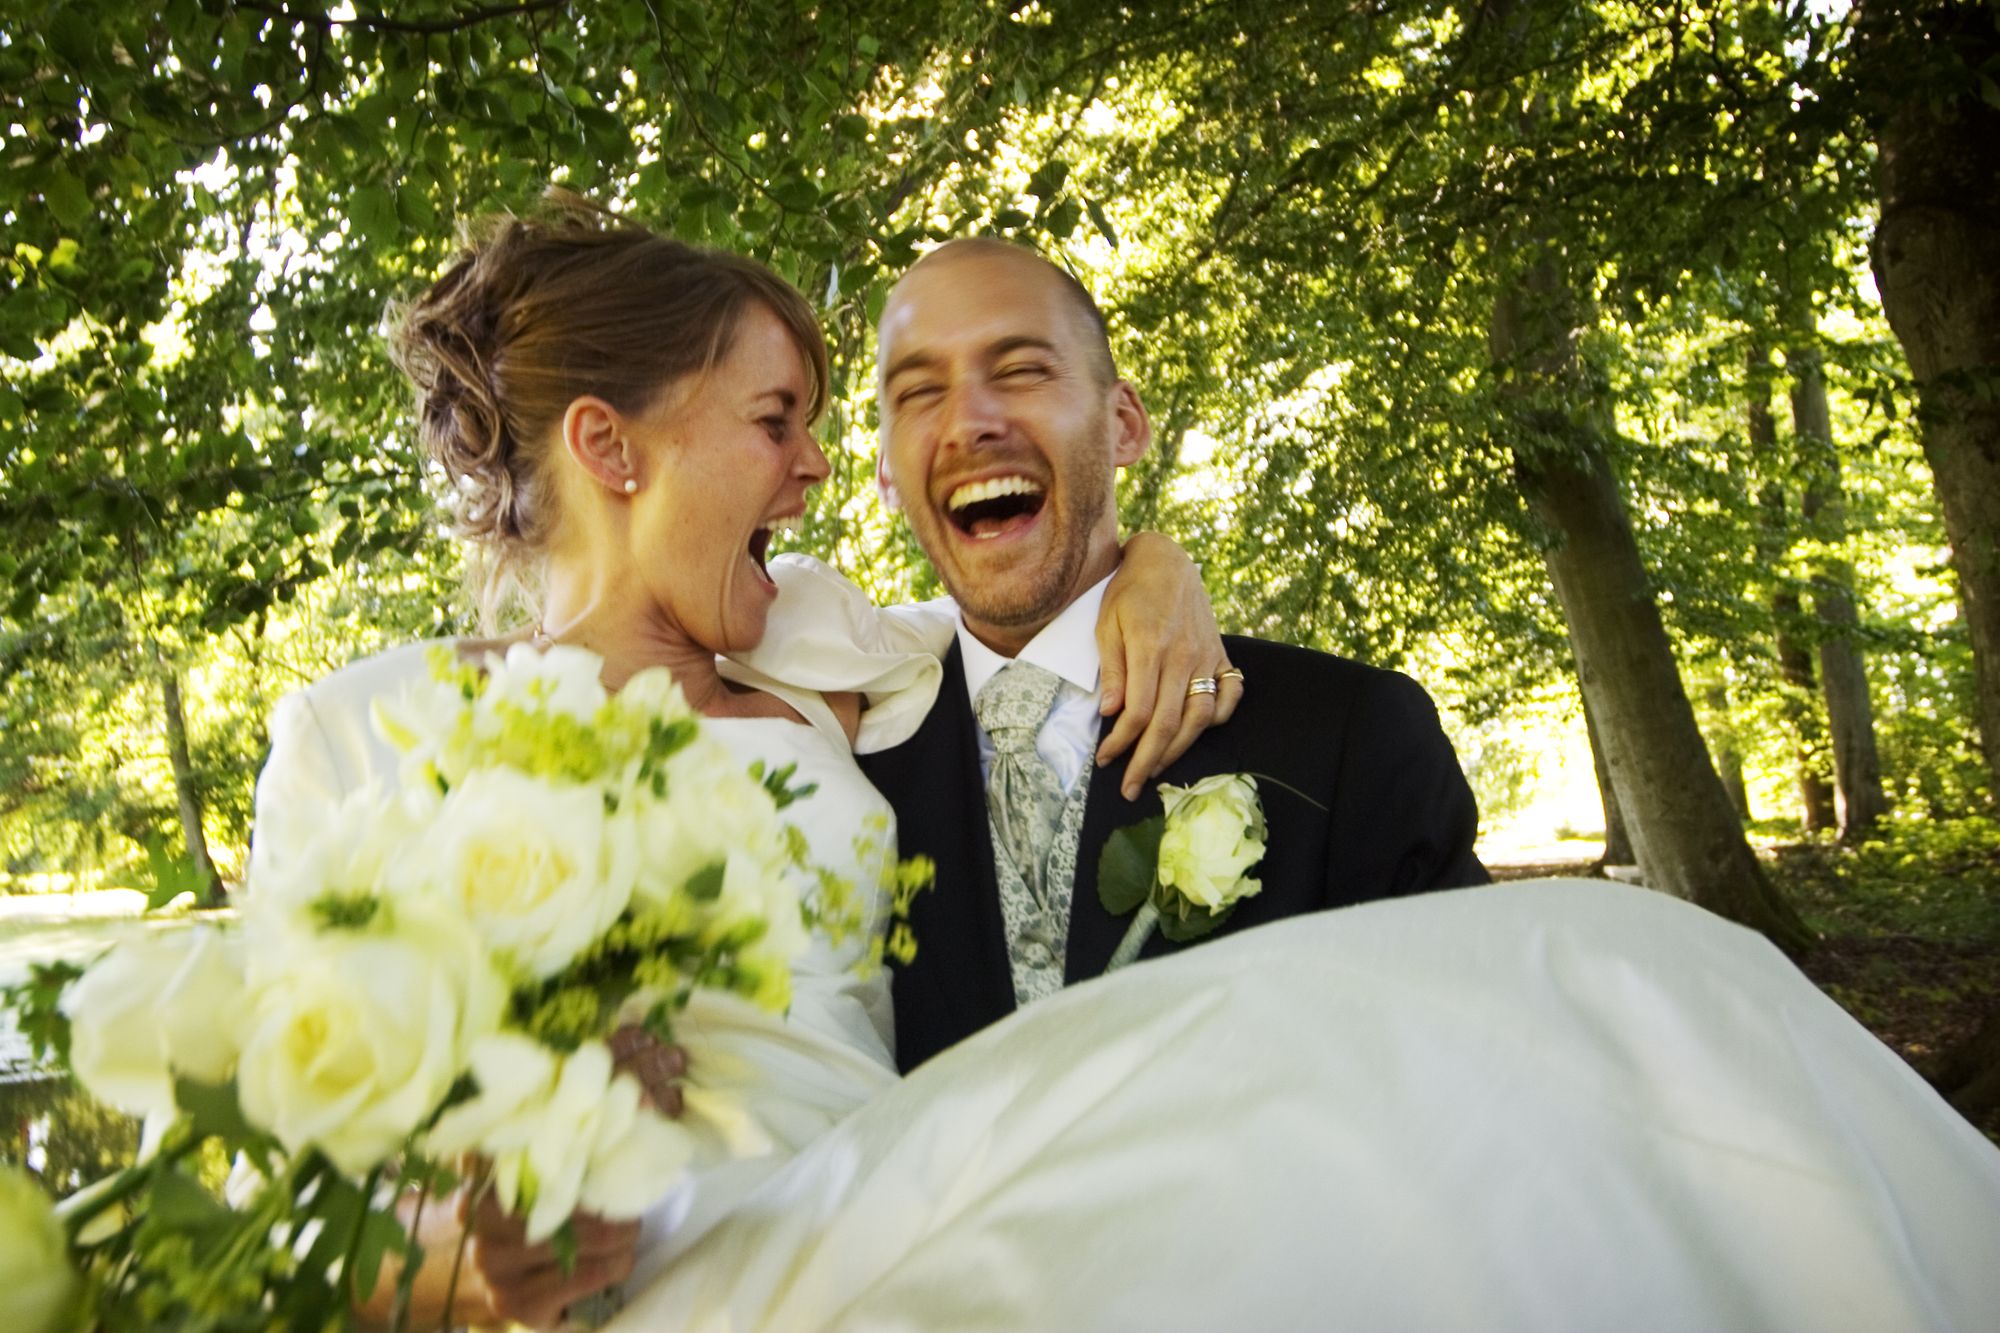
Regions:
<instances>
[{"instance_id":1,"label":"sunlit green forest with trees behind the laughing couple","mask_svg":"<svg viewBox=\"0 0 2000 1333\"><path fill-rule=\"evenodd\" d=\"M218 897L272 703L470 628L386 310L560 182L816 302L796 546L880 598L936 590L874 494L888 284L1042 246L1154 414L1126 524L1226 628L1412 673L1490 855L1594 835L1546 859L2000 1107L1994 6L0 16L6 893Z\"/></svg>"}]
</instances>

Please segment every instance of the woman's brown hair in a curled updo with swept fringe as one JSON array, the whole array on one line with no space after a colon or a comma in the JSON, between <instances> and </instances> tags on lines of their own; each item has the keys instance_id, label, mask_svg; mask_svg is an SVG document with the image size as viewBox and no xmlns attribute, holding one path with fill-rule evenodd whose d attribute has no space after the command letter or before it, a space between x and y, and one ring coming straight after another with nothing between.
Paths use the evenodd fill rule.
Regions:
<instances>
[{"instance_id":1,"label":"woman's brown hair in a curled updo with swept fringe","mask_svg":"<svg viewBox=\"0 0 2000 1333\"><path fill-rule=\"evenodd\" d=\"M682 244L552 188L530 218L464 228L428 292L392 312L416 386L418 438L452 482L452 530L482 550L482 604L532 574L556 520L556 422L584 394L644 414L668 384L728 354L746 308L784 320L826 404L812 306L756 260Z\"/></svg>"}]
</instances>

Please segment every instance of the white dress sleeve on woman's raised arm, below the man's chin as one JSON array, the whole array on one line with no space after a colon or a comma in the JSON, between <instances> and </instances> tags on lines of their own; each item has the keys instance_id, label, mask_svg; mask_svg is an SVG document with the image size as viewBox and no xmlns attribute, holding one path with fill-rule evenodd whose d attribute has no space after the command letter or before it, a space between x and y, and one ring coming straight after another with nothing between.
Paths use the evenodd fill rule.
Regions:
<instances>
[{"instance_id":1,"label":"white dress sleeve on woman's raised arm, below the man's chin","mask_svg":"<svg viewBox=\"0 0 2000 1333\"><path fill-rule=\"evenodd\" d=\"M916 733L944 679L942 658L958 628L950 600L876 606L868 594L812 556L770 562L778 600L764 642L722 658L722 675L778 695L822 731L846 733L820 701L858 693L866 703L854 749L884 751Z\"/></svg>"}]
</instances>

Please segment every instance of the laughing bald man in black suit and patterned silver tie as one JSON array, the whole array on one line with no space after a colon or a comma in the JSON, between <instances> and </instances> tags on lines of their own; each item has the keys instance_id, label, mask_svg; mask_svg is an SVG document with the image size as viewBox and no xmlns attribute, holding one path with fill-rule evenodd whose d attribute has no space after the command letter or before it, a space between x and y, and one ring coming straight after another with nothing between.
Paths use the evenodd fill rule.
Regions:
<instances>
[{"instance_id":1,"label":"laughing bald man in black suit and patterned silver tie","mask_svg":"<svg viewBox=\"0 0 2000 1333\"><path fill-rule=\"evenodd\" d=\"M914 1069L1020 1005L1104 971L1126 931L1098 855L1160 811L1098 769L1114 476L1152 442L1090 294L1030 250L958 240L904 274L878 340L884 490L958 600L958 642L922 729L862 757L902 855L938 865L896 971L896 1051ZM1424 889L1486 883L1472 791L1408 677L1226 638L1244 699L1160 781L1252 773L1268 821L1260 895L1226 931ZM1190 683L1194 691L1212 683ZM1174 945L1154 935L1144 957Z\"/></svg>"}]
</instances>

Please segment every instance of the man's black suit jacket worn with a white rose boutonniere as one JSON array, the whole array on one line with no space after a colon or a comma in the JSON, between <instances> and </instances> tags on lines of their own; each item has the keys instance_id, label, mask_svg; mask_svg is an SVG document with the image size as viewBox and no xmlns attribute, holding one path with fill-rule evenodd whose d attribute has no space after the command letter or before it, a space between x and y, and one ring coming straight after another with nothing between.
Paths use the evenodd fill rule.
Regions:
<instances>
[{"instance_id":1,"label":"man's black suit jacket worn with a white rose boutonniere","mask_svg":"<svg viewBox=\"0 0 2000 1333\"><path fill-rule=\"evenodd\" d=\"M1262 773L1326 809L1276 783L1258 783L1268 823L1258 871L1264 889L1244 899L1218 935L1326 907L1486 883L1472 855L1472 789L1416 681L1290 644L1226 642L1246 677L1242 705L1160 781ZM860 763L896 807L902 855L938 863L936 885L918 895L910 913L916 961L894 975L896 1057L914 1069L1014 1009L978 725L956 644L944 660L938 703L918 733ZM1102 973L1130 921L1098 903L1104 841L1160 813L1154 787L1126 801L1118 793L1122 779L1124 757L1090 779L1070 903L1068 983ZM1154 933L1142 957L1180 947Z\"/></svg>"}]
</instances>

